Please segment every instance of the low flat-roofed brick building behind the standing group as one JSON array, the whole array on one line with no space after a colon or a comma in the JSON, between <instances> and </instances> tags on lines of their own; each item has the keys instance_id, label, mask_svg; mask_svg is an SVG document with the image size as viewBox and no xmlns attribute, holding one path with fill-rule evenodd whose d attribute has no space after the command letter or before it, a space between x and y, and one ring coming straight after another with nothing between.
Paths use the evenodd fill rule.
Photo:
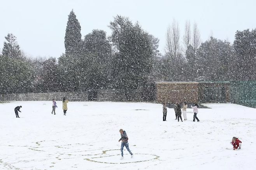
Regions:
<instances>
[{"instance_id":1,"label":"low flat-roofed brick building behind the standing group","mask_svg":"<svg viewBox=\"0 0 256 170\"><path fill-rule=\"evenodd\" d=\"M229 101L229 82L155 82L156 102Z\"/></svg>"}]
</instances>

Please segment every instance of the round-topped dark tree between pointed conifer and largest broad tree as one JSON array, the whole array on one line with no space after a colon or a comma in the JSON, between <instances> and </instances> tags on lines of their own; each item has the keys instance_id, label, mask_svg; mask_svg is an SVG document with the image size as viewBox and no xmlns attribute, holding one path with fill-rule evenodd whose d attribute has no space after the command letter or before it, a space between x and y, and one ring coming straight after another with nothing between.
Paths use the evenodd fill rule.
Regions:
<instances>
[{"instance_id":1,"label":"round-topped dark tree between pointed conifer and largest broad tree","mask_svg":"<svg viewBox=\"0 0 256 170\"><path fill-rule=\"evenodd\" d=\"M107 87L110 80L111 45L107 40L106 32L93 30L84 37L84 49L87 58L84 58L84 70L88 89Z\"/></svg>"}]
</instances>

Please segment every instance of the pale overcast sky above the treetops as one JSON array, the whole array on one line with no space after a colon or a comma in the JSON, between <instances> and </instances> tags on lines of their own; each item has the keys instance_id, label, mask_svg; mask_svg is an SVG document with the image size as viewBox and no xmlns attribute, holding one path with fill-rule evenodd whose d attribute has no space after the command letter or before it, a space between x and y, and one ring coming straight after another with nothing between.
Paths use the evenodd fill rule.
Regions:
<instances>
[{"instance_id":1,"label":"pale overcast sky above the treetops","mask_svg":"<svg viewBox=\"0 0 256 170\"><path fill-rule=\"evenodd\" d=\"M53 56L65 52L64 37L72 9L81 25L82 39L93 29L111 34L107 27L118 15L139 21L144 30L160 39L175 18L181 37L186 20L197 23L204 42L215 38L233 43L237 30L255 29L256 0L0 0L0 49L13 33L29 56ZM191 25L192 26L192 25Z\"/></svg>"}]
</instances>

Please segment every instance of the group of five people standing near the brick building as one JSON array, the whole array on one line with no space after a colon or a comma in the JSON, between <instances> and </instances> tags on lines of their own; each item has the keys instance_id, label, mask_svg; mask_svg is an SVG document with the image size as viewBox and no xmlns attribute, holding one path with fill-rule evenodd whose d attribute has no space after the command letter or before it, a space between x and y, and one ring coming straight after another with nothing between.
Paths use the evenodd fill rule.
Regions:
<instances>
[{"instance_id":1,"label":"group of five people standing near the brick building","mask_svg":"<svg viewBox=\"0 0 256 170\"><path fill-rule=\"evenodd\" d=\"M187 108L188 108L188 104L186 102L184 102L182 104L182 113L183 113L184 121L188 120L188 118L187 118ZM196 103L195 106L191 106L191 108L194 111L193 122L195 121L195 119L199 122L199 119L196 116L198 114L198 104ZM175 111L175 116L176 116L175 120L178 119L178 122L179 122L179 120L181 119L181 121L182 121L181 104L178 101L176 101L175 104L174 104L174 111ZM166 105L166 103L163 103L163 121L166 121L166 116L167 116L167 105Z\"/></svg>"}]
</instances>

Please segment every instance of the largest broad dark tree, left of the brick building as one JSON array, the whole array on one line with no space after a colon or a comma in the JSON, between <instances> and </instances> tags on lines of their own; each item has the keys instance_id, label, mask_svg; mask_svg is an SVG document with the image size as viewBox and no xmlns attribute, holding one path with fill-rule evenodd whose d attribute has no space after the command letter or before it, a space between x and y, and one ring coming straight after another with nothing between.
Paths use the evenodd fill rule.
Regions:
<instances>
[{"instance_id":1,"label":"largest broad dark tree, left of the brick building","mask_svg":"<svg viewBox=\"0 0 256 170\"><path fill-rule=\"evenodd\" d=\"M134 100L132 93L146 85L152 69L153 50L149 34L139 23L122 16L110 22L110 40L115 47L113 85L124 93L124 100Z\"/></svg>"}]
</instances>

